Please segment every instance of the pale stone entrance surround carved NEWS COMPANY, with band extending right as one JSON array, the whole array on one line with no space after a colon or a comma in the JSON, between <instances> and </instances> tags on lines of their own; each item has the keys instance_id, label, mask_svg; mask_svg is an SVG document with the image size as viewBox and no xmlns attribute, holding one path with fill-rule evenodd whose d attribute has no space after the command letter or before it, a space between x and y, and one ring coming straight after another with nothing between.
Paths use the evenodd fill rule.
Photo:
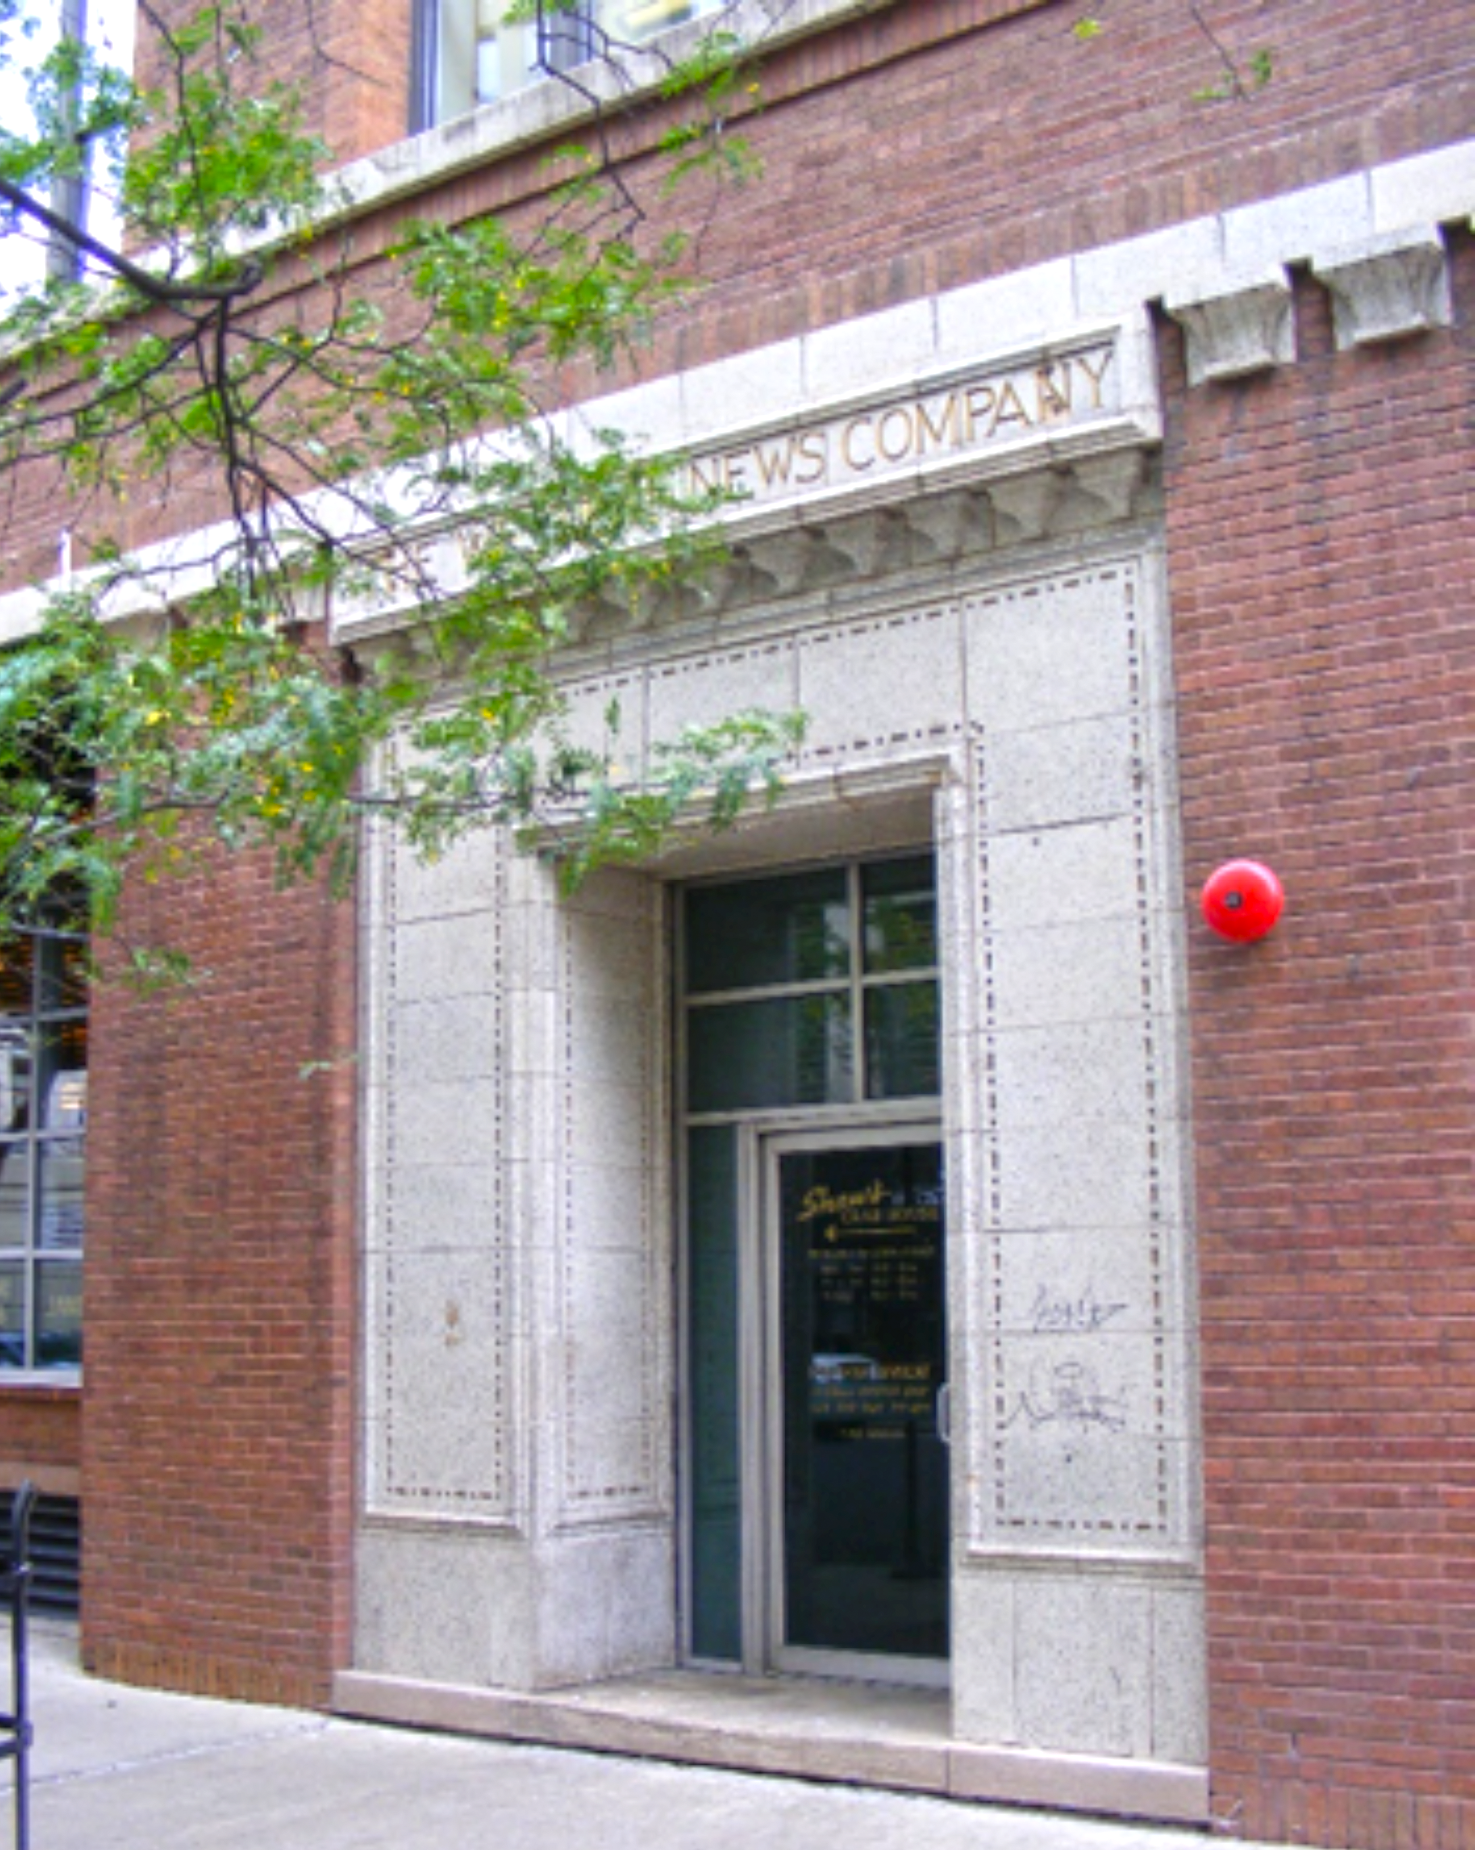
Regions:
<instances>
[{"instance_id":1,"label":"pale stone entrance surround carved NEWS COMPANY, with band extending right","mask_svg":"<svg viewBox=\"0 0 1475 1850\"><path fill-rule=\"evenodd\" d=\"M1345 344L1416 335L1449 313L1438 226L1473 205L1466 144L589 413L746 457L750 477L774 442L809 444L787 455L818 474L846 431L864 461L896 413L890 468L777 488L770 470L731 514L735 562L707 603L592 612L568 675L589 725L618 697L637 749L735 705L811 712L788 801L701 866L931 827L949 1728L972 1796L1207 1815L1183 871L1144 303L1183 322L1205 388L1294 363L1288 265L1325 279ZM998 405L1001 379L1092 342L1110 346L1110 390L1070 414L929 444L896 409L925 403L940 429L949 390L992 379ZM394 620L357 609L341 627ZM559 1708L561 1685L676 1656L670 871L601 875L561 905L494 842L429 871L374 858L344 1708L428 1720L450 1704L457 1726L561 1739L600 1706L585 1691ZM663 1750L655 1724L642 1739Z\"/></svg>"}]
</instances>

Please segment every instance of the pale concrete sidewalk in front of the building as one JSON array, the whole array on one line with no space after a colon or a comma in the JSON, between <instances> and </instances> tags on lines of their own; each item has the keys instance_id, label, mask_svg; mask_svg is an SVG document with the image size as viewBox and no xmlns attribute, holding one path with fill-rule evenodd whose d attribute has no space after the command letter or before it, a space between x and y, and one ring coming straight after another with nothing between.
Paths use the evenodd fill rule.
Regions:
<instances>
[{"instance_id":1,"label":"pale concrete sidewalk in front of the building","mask_svg":"<svg viewBox=\"0 0 1475 1850\"><path fill-rule=\"evenodd\" d=\"M33 1622L33 1850L1205 1850L1101 1824L102 1684ZM9 1780L0 1844L9 1844Z\"/></svg>"}]
</instances>

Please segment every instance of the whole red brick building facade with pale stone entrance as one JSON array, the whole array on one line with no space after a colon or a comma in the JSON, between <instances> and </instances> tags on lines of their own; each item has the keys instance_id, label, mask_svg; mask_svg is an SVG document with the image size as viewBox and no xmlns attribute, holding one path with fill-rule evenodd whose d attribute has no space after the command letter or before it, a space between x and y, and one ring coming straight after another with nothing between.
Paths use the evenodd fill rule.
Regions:
<instances>
[{"instance_id":1,"label":"whole red brick building facade with pale stone entrance","mask_svg":"<svg viewBox=\"0 0 1475 1850\"><path fill-rule=\"evenodd\" d=\"M409 211L537 209L559 85L407 141L439 15L276 11L366 266ZM379 844L353 903L248 862L135 901L209 977L98 992L85 1376L0 1378L7 1473L81 1497L94 1669L557 1739L557 1689L627 1671L942 1663L942 1759L870 1776L1475 1841L1468 9L1231 0L1273 78L1220 102L1181 0L1075 17L777 9L762 181L642 377L589 385L759 492L714 614L590 625L576 709L796 690L772 821L572 906L496 844ZM1196 905L1236 855L1290 895L1251 947ZM703 979L711 921L759 942L831 877L862 958L936 918L853 995L931 982L940 1058L722 1092L720 1010L811 979ZM936 1227L946 1362L811 1332L816 1437L787 1166L885 1164L861 1232ZM853 1495L909 1367L953 1397L912 1456L940 1646L936 1608L831 1630L781 1482L803 1443Z\"/></svg>"}]
</instances>

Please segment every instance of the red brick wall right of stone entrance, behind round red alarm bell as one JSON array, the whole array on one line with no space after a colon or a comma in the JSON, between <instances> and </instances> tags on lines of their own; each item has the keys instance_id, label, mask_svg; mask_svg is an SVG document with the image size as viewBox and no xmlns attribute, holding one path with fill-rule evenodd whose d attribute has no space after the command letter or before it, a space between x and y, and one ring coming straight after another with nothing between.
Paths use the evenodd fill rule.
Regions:
<instances>
[{"instance_id":1,"label":"red brick wall right of stone entrance, behind round red alarm bell","mask_svg":"<svg viewBox=\"0 0 1475 1850\"><path fill-rule=\"evenodd\" d=\"M1299 364L1170 364L1186 871L1288 892L1190 931L1214 1807L1375 1850L1475 1843L1468 237L1456 302L1338 355L1305 285Z\"/></svg>"}]
</instances>

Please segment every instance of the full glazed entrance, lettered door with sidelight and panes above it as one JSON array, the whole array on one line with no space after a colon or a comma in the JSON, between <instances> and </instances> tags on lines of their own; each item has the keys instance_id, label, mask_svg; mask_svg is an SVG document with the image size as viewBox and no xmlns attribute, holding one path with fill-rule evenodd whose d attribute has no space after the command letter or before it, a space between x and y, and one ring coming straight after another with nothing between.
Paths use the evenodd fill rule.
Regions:
<instances>
[{"instance_id":1,"label":"full glazed entrance, lettered door with sidelight and panes above it","mask_svg":"<svg viewBox=\"0 0 1475 1850\"><path fill-rule=\"evenodd\" d=\"M694 884L679 919L687 1656L940 1680L933 857Z\"/></svg>"}]
</instances>

